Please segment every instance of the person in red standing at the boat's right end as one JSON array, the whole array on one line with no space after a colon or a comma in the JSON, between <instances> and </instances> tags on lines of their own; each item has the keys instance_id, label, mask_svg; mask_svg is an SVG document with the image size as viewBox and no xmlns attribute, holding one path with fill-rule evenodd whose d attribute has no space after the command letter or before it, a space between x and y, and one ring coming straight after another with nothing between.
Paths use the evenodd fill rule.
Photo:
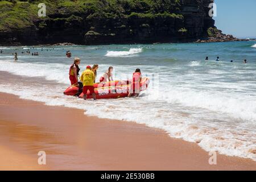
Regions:
<instances>
[{"instance_id":1,"label":"person in red standing at the boat's right end","mask_svg":"<svg viewBox=\"0 0 256 182\"><path fill-rule=\"evenodd\" d=\"M131 87L127 97L131 97L133 93L135 97L138 97L139 93L141 92L140 84L141 84L141 69L137 68L133 73L133 78L131 80Z\"/></svg>"}]
</instances>

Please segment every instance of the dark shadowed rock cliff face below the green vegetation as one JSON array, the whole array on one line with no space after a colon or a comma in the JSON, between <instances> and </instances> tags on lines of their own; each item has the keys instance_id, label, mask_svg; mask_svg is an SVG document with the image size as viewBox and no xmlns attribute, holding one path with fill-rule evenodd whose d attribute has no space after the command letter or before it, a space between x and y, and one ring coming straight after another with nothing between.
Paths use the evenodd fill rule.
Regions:
<instances>
[{"instance_id":1,"label":"dark shadowed rock cliff face below the green vegetation","mask_svg":"<svg viewBox=\"0 0 256 182\"><path fill-rule=\"evenodd\" d=\"M214 20L208 15L211 2L180 0L175 14L166 11L155 15L136 12L107 18L88 18L88 12L74 14L61 7L46 19L33 19L31 26L0 31L0 44L192 42L207 37L208 28L214 27Z\"/></svg>"}]
</instances>

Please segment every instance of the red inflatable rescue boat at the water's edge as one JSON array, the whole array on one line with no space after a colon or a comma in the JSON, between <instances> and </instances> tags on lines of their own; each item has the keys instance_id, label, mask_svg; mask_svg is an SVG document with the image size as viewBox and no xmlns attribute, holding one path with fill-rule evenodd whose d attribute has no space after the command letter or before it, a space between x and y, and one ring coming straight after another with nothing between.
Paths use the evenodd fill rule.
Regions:
<instances>
[{"instance_id":1,"label":"red inflatable rescue boat at the water's edge","mask_svg":"<svg viewBox=\"0 0 256 182\"><path fill-rule=\"evenodd\" d=\"M140 90L146 90L149 84L149 79L147 77L143 77L140 83ZM97 99L101 98L120 98L127 97L129 94L129 89L131 87L131 80L126 81L109 81L109 82L100 82L93 85L94 92L96 94ZM69 86L64 94L67 96L75 96L75 94L79 91L79 85ZM88 97L92 98L88 90ZM84 94L81 93L80 98L84 97Z\"/></svg>"}]
</instances>

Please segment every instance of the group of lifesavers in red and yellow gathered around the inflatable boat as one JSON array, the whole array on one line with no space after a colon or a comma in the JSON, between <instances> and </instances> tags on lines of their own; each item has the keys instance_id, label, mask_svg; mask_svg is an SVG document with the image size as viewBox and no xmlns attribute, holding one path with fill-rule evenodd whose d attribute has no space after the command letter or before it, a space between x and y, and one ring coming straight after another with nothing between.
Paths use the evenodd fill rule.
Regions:
<instances>
[{"instance_id":1,"label":"group of lifesavers in red and yellow gathered around the inflatable boat","mask_svg":"<svg viewBox=\"0 0 256 182\"><path fill-rule=\"evenodd\" d=\"M86 100L87 93L89 90L89 93L92 95L93 99L96 100L96 94L94 93L93 85L96 82L98 64L94 64L93 67L90 67L90 65L88 65L85 71L82 72L79 81L80 62L81 60L78 57L75 57L74 63L69 67L69 80L71 81L71 85L79 85L79 92L76 94L76 96L79 96L81 93L84 93L84 100ZM141 82L141 78L141 70L137 68L133 73L133 79L131 80L132 89L129 90L128 97L131 97L132 95L135 97L139 96L139 83ZM113 67L109 67L108 71L106 71L100 77L100 82L108 81L113 81Z\"/></svg>"}]
</instances>

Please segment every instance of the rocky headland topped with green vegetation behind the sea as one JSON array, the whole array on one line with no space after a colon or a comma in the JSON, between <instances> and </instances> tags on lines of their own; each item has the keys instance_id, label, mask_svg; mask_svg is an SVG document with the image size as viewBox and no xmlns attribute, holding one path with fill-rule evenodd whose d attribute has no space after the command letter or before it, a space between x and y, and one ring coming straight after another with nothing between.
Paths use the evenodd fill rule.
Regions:
<instances>
[{"instance_id":1,"label":"rocky headland topped with green vegetation behind the sea","mask_svg":"<svg viewBox=\"0 0 256 182\"><path fill-rule=\"evenodd\" d=\"M46 17L38 4L46 4ZM0 45L234 41L216 31L212 0L0 1ZM59 45L64 45L59 44Z\"/></svg>"}]
</instances>

